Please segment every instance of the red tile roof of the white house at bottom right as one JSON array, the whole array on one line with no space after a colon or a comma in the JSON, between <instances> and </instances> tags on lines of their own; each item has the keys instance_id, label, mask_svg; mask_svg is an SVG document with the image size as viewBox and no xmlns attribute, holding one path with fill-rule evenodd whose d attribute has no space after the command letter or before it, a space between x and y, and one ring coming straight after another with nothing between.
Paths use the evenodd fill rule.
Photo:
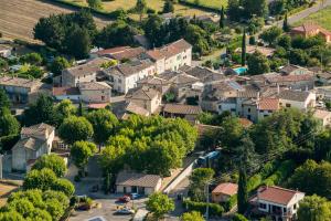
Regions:
<instances>
[{"instance_id":1,"label":"red tile roof of the white house at bottom right","mask_svg":"<svg viewBox=\"0 0 331 221\"><path fill-rule=\"evenodd\" d=\"M297 194L303 193L296 190L284 189L280 187L260 187L257 190L257 199L265 200L269 202L275 202L278 204L287 206L289 201ZM303 193L305 194L305 193Z\"/></svg>"}]
</instances>

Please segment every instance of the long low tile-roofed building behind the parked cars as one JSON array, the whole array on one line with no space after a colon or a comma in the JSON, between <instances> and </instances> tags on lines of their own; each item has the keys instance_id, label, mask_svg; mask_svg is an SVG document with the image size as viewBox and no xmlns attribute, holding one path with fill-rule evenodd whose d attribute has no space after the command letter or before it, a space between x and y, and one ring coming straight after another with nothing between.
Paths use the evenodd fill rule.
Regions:
<instances>
[{"instance_id":1,"label":"long low tile-roofed building behind the parked cars","mask_svg":"<svg viewBox=\"0 0 331 221\"><path fill-rule=\"evenodd\" d=\"M162 178L158 175L120 171L115 185L117 193L151 194L160 190Z\"/></svg>"}]
</instances>

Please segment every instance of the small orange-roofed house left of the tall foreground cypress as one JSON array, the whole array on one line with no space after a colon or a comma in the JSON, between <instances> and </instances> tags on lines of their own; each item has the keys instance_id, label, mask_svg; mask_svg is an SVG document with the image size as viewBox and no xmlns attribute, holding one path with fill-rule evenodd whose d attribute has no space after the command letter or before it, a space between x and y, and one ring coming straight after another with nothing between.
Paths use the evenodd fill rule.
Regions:
<instances>
[{"instance_id":1,"label":"small orange-roofed house left of the tall foreground cypress","mask_svg":"<svg viewBox=\"0 0 331 221\"><path fill-rule=\"evenodd\" d=\"M228 199L236 194L238 191L238 185L232 182L223 182L220 183L213 191L212 191L212 201L220 203L226 202Z\"/></svg>"}]
</instances>

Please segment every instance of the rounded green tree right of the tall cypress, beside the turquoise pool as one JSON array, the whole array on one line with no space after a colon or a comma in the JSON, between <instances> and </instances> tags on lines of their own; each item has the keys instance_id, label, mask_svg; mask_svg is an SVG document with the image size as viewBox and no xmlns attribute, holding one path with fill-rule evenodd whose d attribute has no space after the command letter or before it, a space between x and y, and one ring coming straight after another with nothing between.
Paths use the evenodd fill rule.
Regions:
<instances>
[{"instance_id":1,"label":"rounded green tree right of the tall cypress, beside the turquoise pool","mask_svg":"<svg viewBox=\"0 0 331 221\"><path fill-rule=\"evenodd\" d=\"M268 59L258 51L255 51L247 60L248 74L257 75L270 72Z\"/></svg>"}]
</instances>

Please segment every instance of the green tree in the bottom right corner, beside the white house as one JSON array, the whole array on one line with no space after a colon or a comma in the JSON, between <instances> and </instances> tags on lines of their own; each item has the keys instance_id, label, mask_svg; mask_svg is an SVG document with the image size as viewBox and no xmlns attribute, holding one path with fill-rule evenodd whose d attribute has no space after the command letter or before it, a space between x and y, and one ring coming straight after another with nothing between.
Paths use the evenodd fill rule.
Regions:
<instances>
[{"instance_id":1,"label":"green tree in the bottom right corner, beside the white house","mask_svg":"<svg viewBox=\"0 0 331 221\"><path fill-rule=\"evenodd\" d=\"M319 196L305 197L298 209L298 221L330 221L331 202Z\"/></svg>"}]
</instances>

